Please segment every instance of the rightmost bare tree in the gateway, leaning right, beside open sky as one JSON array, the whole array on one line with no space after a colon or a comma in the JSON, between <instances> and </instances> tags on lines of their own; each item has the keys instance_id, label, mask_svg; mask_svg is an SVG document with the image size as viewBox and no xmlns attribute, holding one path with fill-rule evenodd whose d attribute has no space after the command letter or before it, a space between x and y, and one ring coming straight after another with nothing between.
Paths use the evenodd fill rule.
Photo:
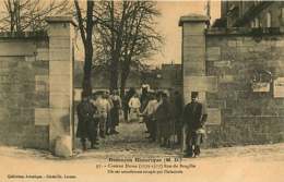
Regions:
<instances>
[{"instance_id":1,"label":"rightmost bare tree in the gateway, leaning right, beside open sky","mask_svg":"<svg viewBox=\"0 0 284 182\"><path fill-rule=\"evenodd\" d=\"M120 93L123 95L131 69L143 70L144 60L159 50L163 37L155 31L155 17L159 15L156 3L139 1L133 4L126 23L120 72Z\"/></svg>"}]
</instances>

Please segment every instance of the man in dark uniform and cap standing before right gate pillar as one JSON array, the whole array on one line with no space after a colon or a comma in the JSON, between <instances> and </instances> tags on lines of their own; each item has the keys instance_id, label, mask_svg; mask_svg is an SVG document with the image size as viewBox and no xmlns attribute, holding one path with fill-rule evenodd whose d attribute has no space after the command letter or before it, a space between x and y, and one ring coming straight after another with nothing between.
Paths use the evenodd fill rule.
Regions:
<instances>
[{"instance_id":1,"label":"man in dark uniform and cap standing before right gate pillar","mask_svg":"<svg viewBox=\"0 0 284 182\"><path fill-rule=\"evenodd\" d=\"M204 123L208 113L204 105L198 101L198 92L191 93L191 102L184 109L184 125L186 128L187 154L185 157L200 155L200 144L204 135Z\"/></svg>"}]
</instances>

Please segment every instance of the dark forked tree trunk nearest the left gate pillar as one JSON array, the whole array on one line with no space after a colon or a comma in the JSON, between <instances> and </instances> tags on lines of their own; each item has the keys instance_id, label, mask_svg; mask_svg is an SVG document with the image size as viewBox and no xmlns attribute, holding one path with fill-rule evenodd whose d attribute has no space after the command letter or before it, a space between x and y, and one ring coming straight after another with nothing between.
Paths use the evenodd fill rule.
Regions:
<instances>
[{"instance_id":1,"label":"dark forked tree trunk nearest the left gate pillar","mask_svg":"<svg viewBox=\"0 0 284 182\"><path fill-rule=\"evenodd\" d=\"M92 60L93 60L93 12L94 12L94 1L86 1L86 12L81 9L79 0L74 0L76 17L79 22L80 35L84 45L84 76L83 76L83 93L86 95L92 94Z\"/></svg>"}]
</instances>

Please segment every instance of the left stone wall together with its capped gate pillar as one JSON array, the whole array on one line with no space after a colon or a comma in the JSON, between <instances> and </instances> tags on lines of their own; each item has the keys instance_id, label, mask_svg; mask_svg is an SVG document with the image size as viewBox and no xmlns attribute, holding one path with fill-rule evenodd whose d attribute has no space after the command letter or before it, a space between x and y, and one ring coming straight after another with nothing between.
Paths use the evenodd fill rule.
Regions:
<instances>
[{"instance_id":1,"label":"left stone wall together with its capped gate pillar","mask_svg":"<svg viewBox=\"0 0 284 182\"><path fill-rule=\"evenodd\" d=\"M0 144L55 151L64 138L72 153L75 24L47 22L48 32L0 35Z\"/></svg>"}]
</instances>

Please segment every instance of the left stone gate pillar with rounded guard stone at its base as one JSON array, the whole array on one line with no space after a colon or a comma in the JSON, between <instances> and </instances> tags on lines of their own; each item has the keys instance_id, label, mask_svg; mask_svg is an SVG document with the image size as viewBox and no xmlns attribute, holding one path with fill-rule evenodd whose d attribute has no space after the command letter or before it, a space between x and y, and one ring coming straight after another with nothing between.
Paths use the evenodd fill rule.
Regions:
<instances>
[{"instance_id":1,"label":"left stone gate pillar with rounded guard stone at its base","mask_svg":"<svg viewBox=\"0 0 284 182\"><path fill-rule=\"evenodd\" d=\"M72 17L47 17L49 24L49 148L56 156L72 155L73 41Z\"/></svg>"}]
</instances>

